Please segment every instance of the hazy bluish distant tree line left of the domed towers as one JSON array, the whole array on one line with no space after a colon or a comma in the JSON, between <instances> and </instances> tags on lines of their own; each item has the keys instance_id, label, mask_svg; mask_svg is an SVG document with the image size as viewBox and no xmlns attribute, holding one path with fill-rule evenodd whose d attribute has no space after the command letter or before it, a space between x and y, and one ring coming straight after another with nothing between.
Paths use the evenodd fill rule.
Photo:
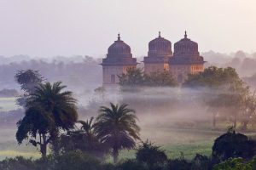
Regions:
<instances>
[{"instance_id":1,"label":"hazy bluish distant tree line left of the domed towers","mask_svg":"<svg viewBox=\"0 0 256 170\"><path fill-rule=\"evenodd\" d=\"M21 56L22 57L22 56ZM1 58L1 57L0 57ZM15 59L10 63L0 63L0 86L3 88L16 88L14 78L16 71L28 69L40 71L49 82L61 81L68 88L80 90L81 87L93 89L102 83L101 61L88 56L73 58L55 57L53 59ZM90 80L90 84L87 83Z\"/></svg>"}]
</instances>

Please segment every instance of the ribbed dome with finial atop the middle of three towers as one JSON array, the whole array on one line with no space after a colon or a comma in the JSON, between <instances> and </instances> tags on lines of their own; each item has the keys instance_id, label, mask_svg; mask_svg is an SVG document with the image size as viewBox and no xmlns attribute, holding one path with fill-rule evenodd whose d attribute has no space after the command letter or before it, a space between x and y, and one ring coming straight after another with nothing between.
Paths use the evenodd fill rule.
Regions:
<instances>
[{"instance_id":1,"label":"ribbed dome with finial atop the middle of three towers","mask_svg":"<svg viewBox=\"0 0 256 170\"><path fill-rule=\"evenodd\" d=\"M172 56L172 42L160 36L148 43L148 57Z\"/></svg>"}]
</instances>

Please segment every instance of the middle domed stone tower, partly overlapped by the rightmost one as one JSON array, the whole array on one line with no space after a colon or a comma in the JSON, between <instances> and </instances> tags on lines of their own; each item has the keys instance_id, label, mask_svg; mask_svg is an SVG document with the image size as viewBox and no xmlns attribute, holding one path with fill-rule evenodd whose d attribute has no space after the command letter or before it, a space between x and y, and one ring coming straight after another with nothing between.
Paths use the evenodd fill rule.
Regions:
<instances>
[{"instance_id":1,"label":"middle domed stone tower, partly overlapped by the rightmost one","mask_svg":"<svg viewBox=\"0 0 256 170\"><path fill-rule=\"evenodd\" d=\"M144 57L144 71L150 74L155 71L169 71L169 59L172 57L172 42L161 37L148 43L148 56Z\"/></svg>"}]
</instances>

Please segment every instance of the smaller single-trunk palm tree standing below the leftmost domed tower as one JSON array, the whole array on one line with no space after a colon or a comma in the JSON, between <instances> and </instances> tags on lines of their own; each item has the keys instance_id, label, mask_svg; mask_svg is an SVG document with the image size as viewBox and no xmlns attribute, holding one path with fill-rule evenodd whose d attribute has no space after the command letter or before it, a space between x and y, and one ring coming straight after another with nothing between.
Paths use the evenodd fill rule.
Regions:
<instances>
[{"instance_id":1,"label":"smaller single-trunk palm tree standing below the leftmost domed tower","mask_svg":"<svg viewBox=\"0 0 256 170\"><path fill-rule=\"evenodd\" d=\"M118 161L119 150L130 150L135 147L139 138L140 127L137 125L135 111L127 105L102 106L96 117L95 131L103 143L112 149L113 162Z\"/></svg>"}]
</instances>

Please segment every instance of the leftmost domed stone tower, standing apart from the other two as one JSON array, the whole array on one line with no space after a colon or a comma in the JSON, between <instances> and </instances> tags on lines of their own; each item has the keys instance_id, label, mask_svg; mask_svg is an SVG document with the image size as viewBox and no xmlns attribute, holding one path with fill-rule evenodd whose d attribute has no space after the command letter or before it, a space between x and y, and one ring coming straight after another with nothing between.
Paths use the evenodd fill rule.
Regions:
<instances>
[{"instance_id":1,"label":"leftmost domed stone tower, standing apart from the other two","mask_svg":"<svg viewBox=\"0 0 256 170\"><path fill-rule=\"evenodd\" d=\"M108 48L108 54L102 59L103 86L118 84L119 77L126 72L127 68L137 66L137 59L132 58L131 48L123 42L118 34L118 40Z\"/></svg>"}]
</instances>

